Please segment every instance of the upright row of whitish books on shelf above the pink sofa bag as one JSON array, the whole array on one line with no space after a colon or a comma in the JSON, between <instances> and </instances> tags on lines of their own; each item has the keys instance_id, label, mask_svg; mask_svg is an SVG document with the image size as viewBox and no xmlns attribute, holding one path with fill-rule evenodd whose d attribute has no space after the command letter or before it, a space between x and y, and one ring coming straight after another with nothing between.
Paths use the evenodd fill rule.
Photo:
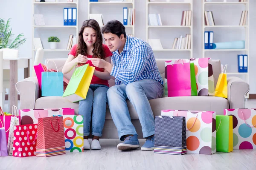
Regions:
<instances>
[{"instance_id":1,"label":"upright row of whitish books on shelf above the pink sofa bag","mask_svg":"<svg viewBox=\"0 0 256 170\"><path fill-rule=\"evenodd\" d=\"M186 34L186 37L180 35L180 37L175 38L172 44L172 49L176 50L189 50L191 49L191 34Z\"/></svg>"}]
</instances>

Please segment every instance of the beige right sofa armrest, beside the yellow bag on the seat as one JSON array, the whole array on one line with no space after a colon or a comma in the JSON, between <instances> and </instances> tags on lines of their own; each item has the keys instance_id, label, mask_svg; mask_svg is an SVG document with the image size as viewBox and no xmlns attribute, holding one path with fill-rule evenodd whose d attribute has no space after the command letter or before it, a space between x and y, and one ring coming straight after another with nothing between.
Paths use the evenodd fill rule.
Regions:
<instances>
[{"instance_id":1,"label":"beige right sofa armrest, beside the yellow bag on the seat","mask_svg":"<svg viewBox=\"0 0 256 170\"><path fill-rule=\"evenodd\" d=\"M244 108L244 97L250 85L238 77L227 78L227 100L230 108Z\"/></svg>"}]
</instances>

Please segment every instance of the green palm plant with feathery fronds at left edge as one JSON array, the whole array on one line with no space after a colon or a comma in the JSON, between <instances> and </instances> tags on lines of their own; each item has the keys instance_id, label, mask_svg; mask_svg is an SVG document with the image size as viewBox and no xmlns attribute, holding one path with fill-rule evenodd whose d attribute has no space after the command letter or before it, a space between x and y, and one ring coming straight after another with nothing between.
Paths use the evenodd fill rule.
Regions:
<instances>
[{"instance_id":1,"label":"green palm plant with feathery fronds at left edge","mask_svg":"<svg viewBox=\"0 0 256 170\"><path fill-rule=\"evenodd\" d=\"M19 34L14 38L12 28L10 28L10 18L5 23L5 20L0 18L0 49L1 48L19 48L20 45L25 43L26 39L23 34Z\"/></svg>"}]
</instances>

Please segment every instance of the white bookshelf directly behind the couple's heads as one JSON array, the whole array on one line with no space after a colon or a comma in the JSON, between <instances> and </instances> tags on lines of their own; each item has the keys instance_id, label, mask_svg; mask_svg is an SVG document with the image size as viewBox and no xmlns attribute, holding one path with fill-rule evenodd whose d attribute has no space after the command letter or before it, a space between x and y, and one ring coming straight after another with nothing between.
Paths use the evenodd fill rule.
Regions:
<instances>
[{"instance_id":1,"label":"white bookshelf directly behind the couple's heads","mask_svg":"<svg viewBox=\"0 0 256 170\"><path fill-rule=\"evenodd\" d=\"M89 1L89 0L88 0ZM130 1L124 1L124 2L109 2L109 1L103 1L103 2L88 2L88 19L90 18L90 14L94 14L95 12L93 12L93 13L91 13L93 10L91 9L92 7L95 7L96 5L99 5L99 7L102 7L102 10L104 10L104 12L100 12L99 11L99 14L102 14L102 13L105 13L105 6L102 6L102 5L112 5L112 6L114 6L114 5L116 5L116 6L120 6L120 5L127 5L127 6L124 6L124 7L131 7L131 8L133 8L133 9L135 9L135 3L134 3L134 0L130 0ZM113 12L113 11L112 11ZM122 13L120 14L120 15L122 15L123 16L123 10L122 10ZM103 14L103 23L104 24L106 24L107 23L107 20L104 20L104 17L105 16L105 14ZM111 16L111 15L110 15ZM128 16L127 16L128 17ZM123 17L122 17L122 20L120 20L120 19L116 19L116 17L114 17L114 18L112 18L112 17L110 17L111 19L108 19L108 20L119 20L121 23L123 23ZM135 16L133 15L133 21L135 21ZM101 25L101 24L100 24ZM125 28L130 28L131 30L132 30L132 34L133 34L133 36L134 36L134 34L135 34L135 27L134 27L134 25L135 25L135 22L133 23L133 25L128 25L128 26L125 26ZM101 28L103 27L103 26L100 26ZM130 30L129 29L129 30ZM126 32L126 34L128 35L128 34L130 34L130 33L128 33L128 32Z\"/></svg>"}]
</instances>

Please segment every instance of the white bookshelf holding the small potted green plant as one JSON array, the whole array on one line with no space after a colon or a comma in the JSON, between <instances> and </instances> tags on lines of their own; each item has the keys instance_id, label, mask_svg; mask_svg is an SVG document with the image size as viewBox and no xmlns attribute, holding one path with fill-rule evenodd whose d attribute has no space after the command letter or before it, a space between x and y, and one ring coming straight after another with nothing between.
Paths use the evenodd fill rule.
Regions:
<instances>
[{"instance_id":1,"label":"white bookshelf holding the small potted green plant","mask_svg":"<svg viewBox=\"0 0 256 170\"><path fill-rule=\"evenodd\" d=\"M59 2L57 2L59 1ZM35 46L34 46L34 38L41 38L41 42L44 47L44 51L47 52L57 52L57 55L63 56L64 54L68 54L70 50L67 50L67 42L69 39L69 34L67 34L67 31L69 31L70 34L73 34L74 36L78 37L78 20L79 20L79 0L73 0L74 2L67 2L67 0L57 0L56 2L35 2L35 0L32 0L32 63L34 63L35 59ZM50 9L49 9L50 8ZM76 8L76 26L64 26L63 25L63 8ZM49 9L49 10L48 10ZM51 9L57 9L56 11L52 11ZM56 14L59 11L58 14ZM33 14L43 14L45 26L36 26ZM49 14L52 14L49 15ZM54 17L52 19L52 17ZM56 20L58 22L51 22L51 20ZM56 24L56 25L55 25ZM48 37L47 36L56 36L56 32L58 34L62 34L60 38L60 41L62 42L60 46L57 46L57 49L49 49L48 48ZM52 33L52 34L51 34ZM38 36L36 36L37 34ZM41 35L41 36L40 36ZM44 39L44 40L42 40ZM77 39L78 40L78 39ZM47 46L45 48L45 46ZM61 49L59 49L61 48ZM61 52L58 54L58 52ZM44 55L47 55L48 53L44 53ZM47 57L50 55L47 55Z\"/></svg>"}]
</instances>

